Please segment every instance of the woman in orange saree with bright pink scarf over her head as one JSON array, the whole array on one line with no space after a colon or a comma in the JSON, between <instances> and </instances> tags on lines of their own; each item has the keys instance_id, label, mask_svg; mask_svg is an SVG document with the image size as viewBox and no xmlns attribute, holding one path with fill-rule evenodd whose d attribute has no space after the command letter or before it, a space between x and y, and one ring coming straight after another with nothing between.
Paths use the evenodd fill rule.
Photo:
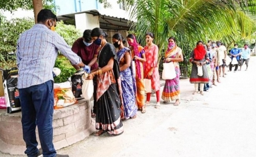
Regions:
<instances>
[{"instance_id":1,"label":"woman in orange saree with bright pink scarf over her head","mask_svg":"<svg viewBox=\"0 0 256 157\"><path fill-rule=\"evenodd\" d=\"M132 53L132 58L135 63L135 80L137 87L136 102L138 110L141 110L141 113L146 113L145 106L145 85L143 79L143 63L146 61L144 47L137 44L136 38L134 35L129 34L127 37L128 44Z\"/></svg>"}]
</instances>

